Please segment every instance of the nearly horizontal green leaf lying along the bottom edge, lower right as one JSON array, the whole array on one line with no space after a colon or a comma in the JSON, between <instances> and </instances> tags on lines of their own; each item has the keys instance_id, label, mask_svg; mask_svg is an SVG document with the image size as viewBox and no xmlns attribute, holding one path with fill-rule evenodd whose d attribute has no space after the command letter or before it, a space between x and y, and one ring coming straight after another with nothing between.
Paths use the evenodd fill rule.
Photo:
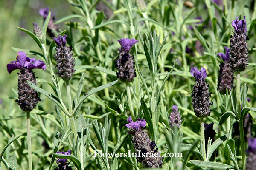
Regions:
<instances>
[{"instance_id":1,"label":"nearly horizontal green leaf lying along the bottom edge, lower right","mask_svg":"<svg viewBox=\"0 0 256 170\"><path fill-rule=\"evenodd\" d=\"M190 162L191 162L191 164L198 166L198 167L207 167L207 168L212 168L212 169L217 169L217 170L234 169L234 167L232 167L230 165L217 163L217 162L198 161L198 160L190 160Z\"/></svg>"}]
</instances>

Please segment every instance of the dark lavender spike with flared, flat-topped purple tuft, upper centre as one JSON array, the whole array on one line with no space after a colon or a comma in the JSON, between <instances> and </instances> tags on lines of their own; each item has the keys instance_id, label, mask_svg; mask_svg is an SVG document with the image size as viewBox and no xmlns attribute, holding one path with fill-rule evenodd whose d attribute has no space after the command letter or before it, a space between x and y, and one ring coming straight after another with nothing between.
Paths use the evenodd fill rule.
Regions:
<instances>
[{"instance_id":1,"label":"dark lavender spike with flared, flat-topped purple tuft, upper centre","mask_svg":"<svg viewBox=\"0 0 256 170\"><path fill-rule=\"evenodd\" d=\"M116 59L116 77L124 82L132 82L136 77L134 56L129 53L130 49L138 41L135 39L122 38L117 42L120 43L121 49L118 59Z\"/></svg>"}]
</instances>

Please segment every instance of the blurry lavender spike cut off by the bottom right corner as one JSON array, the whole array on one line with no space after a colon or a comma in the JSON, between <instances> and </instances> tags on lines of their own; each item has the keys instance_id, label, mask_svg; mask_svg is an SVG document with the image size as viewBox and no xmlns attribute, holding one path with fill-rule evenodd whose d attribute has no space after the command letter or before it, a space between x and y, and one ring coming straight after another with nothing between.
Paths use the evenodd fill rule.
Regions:
<instances>
[{"instance_id":1,"label":"blurry lavender spike cut off by the bottom right corner","mask_svg":"<svg viewBox=\"0 0 256 170\"><path fill-rule=\"evenodd\" d=\"M248 157L246 163L246 170L255 170L256 167L256 138L251 138L248 141Z\"/></svg>"}]
</instances>

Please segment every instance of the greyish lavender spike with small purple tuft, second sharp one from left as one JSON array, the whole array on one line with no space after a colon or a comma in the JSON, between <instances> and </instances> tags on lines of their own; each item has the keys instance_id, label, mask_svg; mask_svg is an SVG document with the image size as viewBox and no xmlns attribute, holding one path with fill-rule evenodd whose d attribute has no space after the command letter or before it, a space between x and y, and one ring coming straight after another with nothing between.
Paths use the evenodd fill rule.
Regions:
<instances>
[{"instance_id":1,"label":"greyish lavender spike with small purple tuft, second sharp one from left","mask_svg":"<svg viewBox=\"0 0 256 170\"><path fill-rule=\"evenodd\" d=\"M53 38L57 44L55 59L57 65L57 75L65 81L70 80L72 75L75 73L75 62L73 58L72 47L67 46L67 35L59 35L57 38Z\"/></svg>"}]
</instances>

